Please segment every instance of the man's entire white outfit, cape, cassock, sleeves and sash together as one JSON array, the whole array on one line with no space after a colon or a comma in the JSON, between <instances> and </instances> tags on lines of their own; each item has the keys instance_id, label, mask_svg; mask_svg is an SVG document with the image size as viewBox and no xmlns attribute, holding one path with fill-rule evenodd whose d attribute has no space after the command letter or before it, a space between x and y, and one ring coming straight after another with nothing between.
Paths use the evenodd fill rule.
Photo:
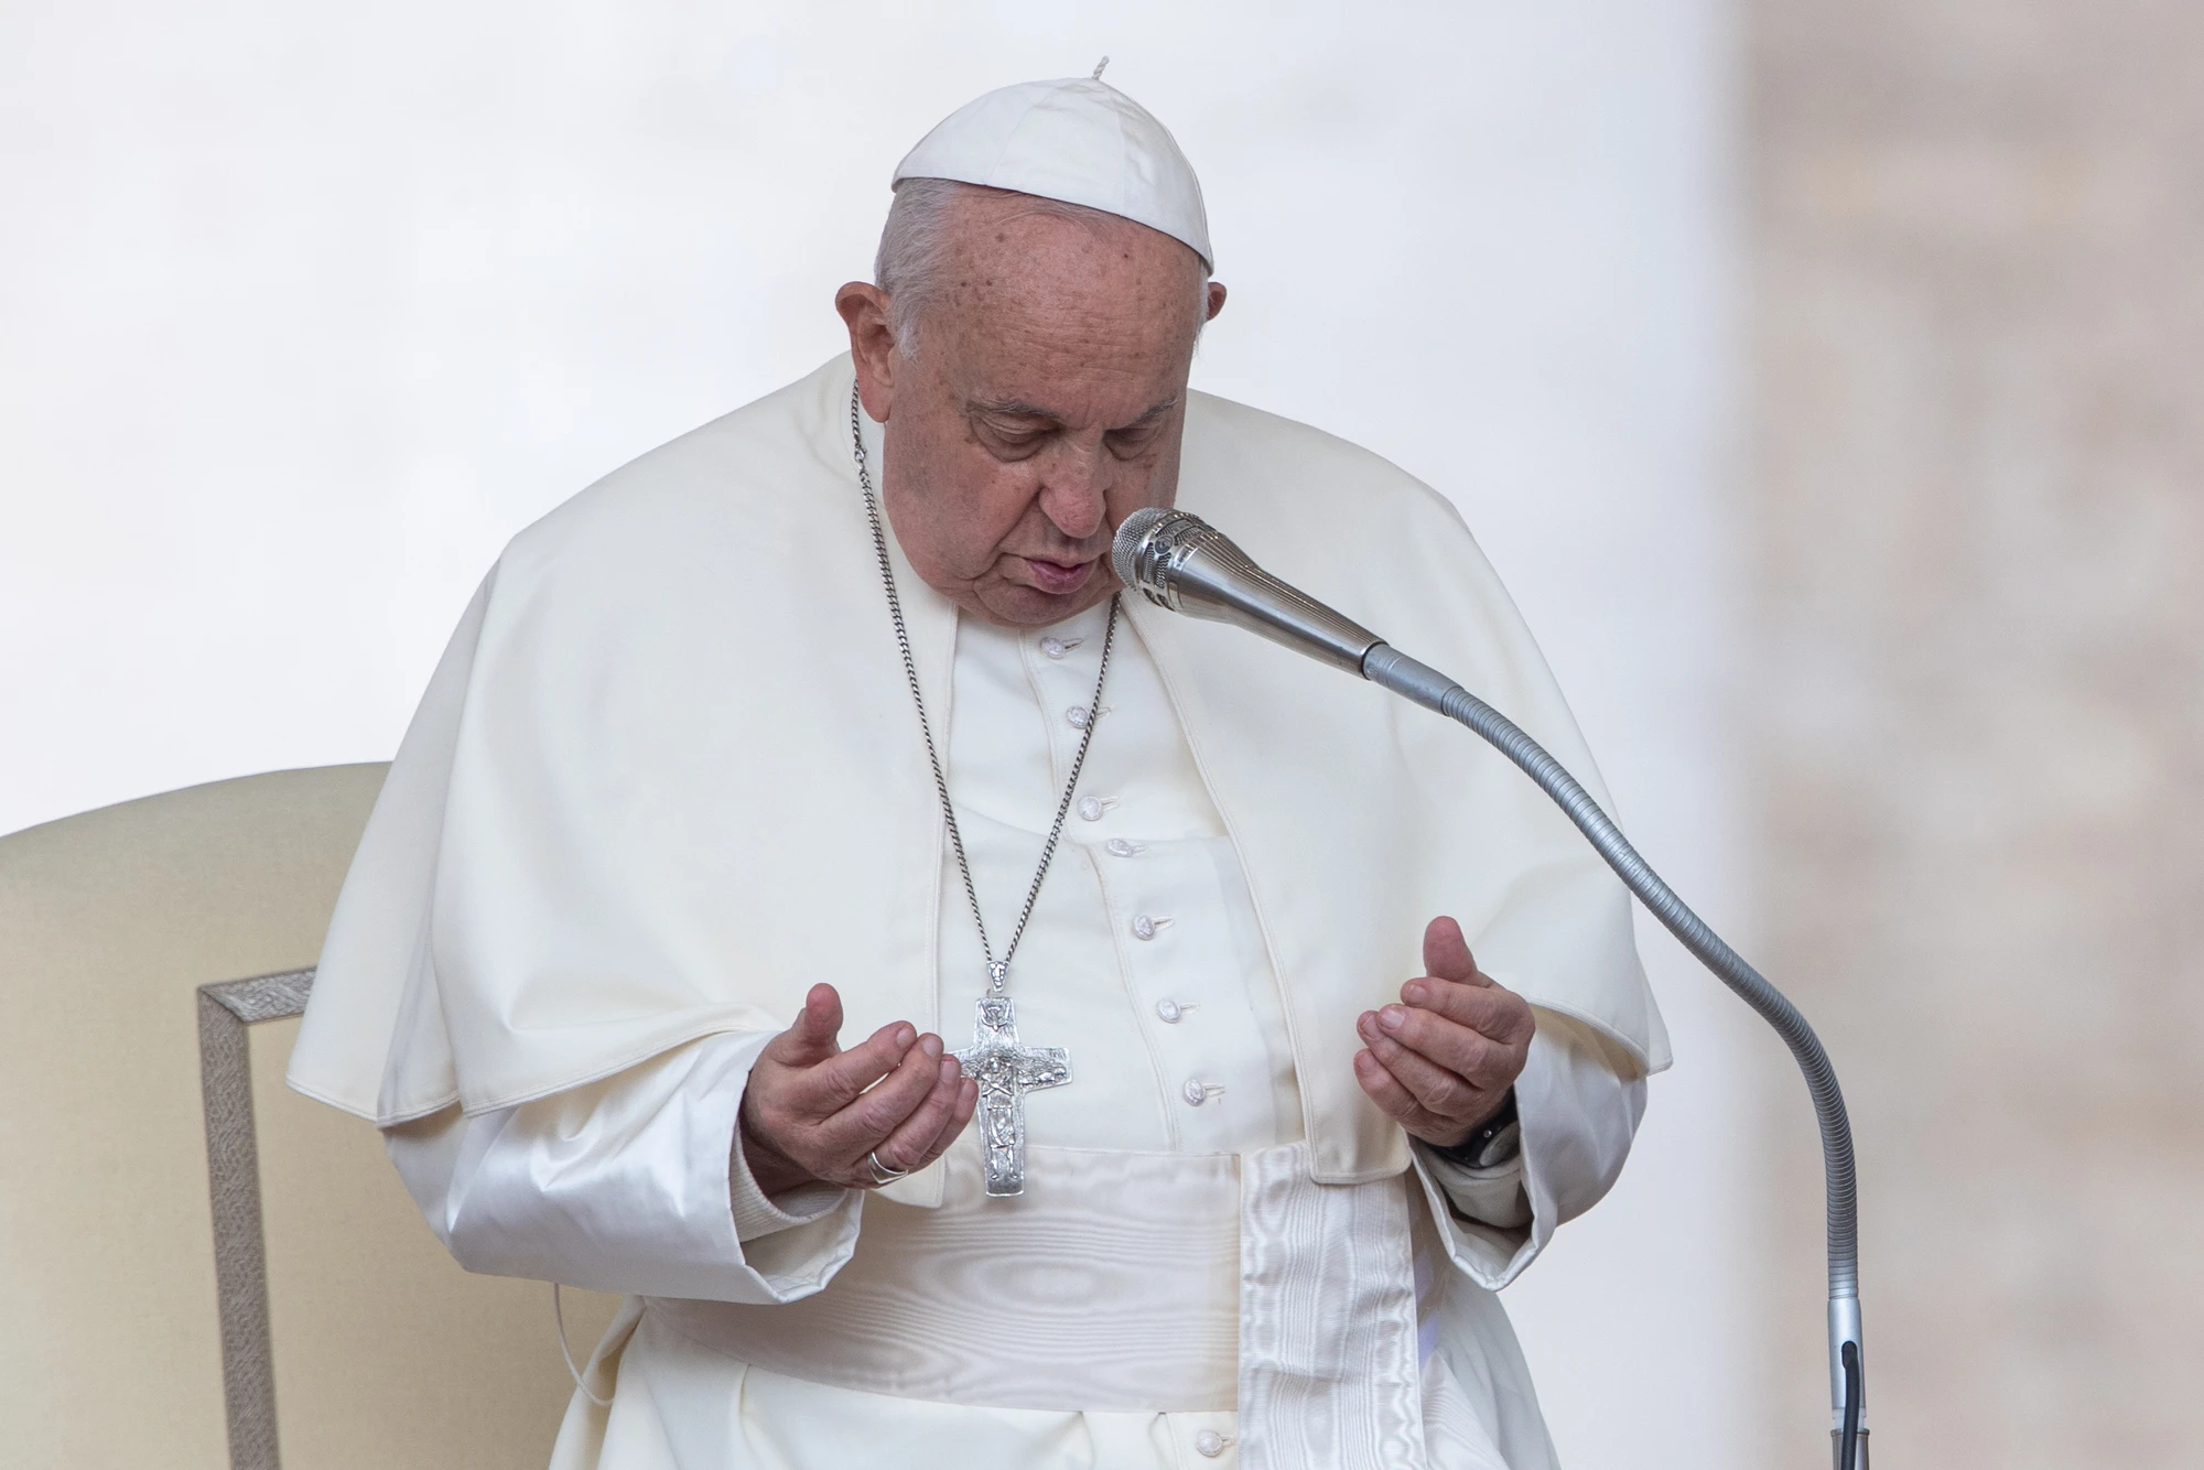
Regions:
<instances>
[{"instance_id":1,"label":"man's entire white outfit, cape, cassock, sleeves and sash together","mask_svg":"<svg viewBox=\"0 0 2204 1470\"><path fill-rule=\"evenodd\" d=\"M983 1197L968 1131L873 1197L758 1195L736 1111L811 983L849 1038L906 1016L950 1047L985 985L860 575L849 383L829 364L507 551L392 767L293 1084L386 1128L469 1269L633 1296L562 1468L1549 1466L1494 1291L1611 1186L1666 1060L1627 906L1497 758L1241 633L1126 604L1012 970L1023 1038L1071 1051L1025 1102L1027 1192ZM1243 480L1267 505L1212 494ZM1470 617L1413 575L1338 602L1591 776L1428 491L1195 397L1181 505L1298 571L1265 538L1309 518L1296 480L1411 531ZM1003 630L895 560L1001 945L1106 613ZM1347 1060L1433 912L1538 1007L1523 1153L1492 1170L1411 1150Z\"/></svg>"}]
</instances>

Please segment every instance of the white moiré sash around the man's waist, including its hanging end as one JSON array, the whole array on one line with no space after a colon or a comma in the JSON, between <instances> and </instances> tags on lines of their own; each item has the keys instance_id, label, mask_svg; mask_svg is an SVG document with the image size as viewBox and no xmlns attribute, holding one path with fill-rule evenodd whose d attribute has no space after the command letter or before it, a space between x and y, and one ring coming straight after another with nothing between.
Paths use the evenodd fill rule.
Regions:
<instances>
[{"instance_id":1,"label":"white moir\u00e9 sash around the man's waist, including its hanging end","mask_svg":"<svg viewBox=\"0 0 2204 1470\"><path fill-rule=\"evenodd\" d=\"M683 1338L866 1393L1051 1410L1239 1410L1250 1470L1422 1470L1408 1192L1250 1155L1031 1148L985 1199L866 1201L857 1252L776 1307L652 1298Z\"/></svg>"}]
</instances>

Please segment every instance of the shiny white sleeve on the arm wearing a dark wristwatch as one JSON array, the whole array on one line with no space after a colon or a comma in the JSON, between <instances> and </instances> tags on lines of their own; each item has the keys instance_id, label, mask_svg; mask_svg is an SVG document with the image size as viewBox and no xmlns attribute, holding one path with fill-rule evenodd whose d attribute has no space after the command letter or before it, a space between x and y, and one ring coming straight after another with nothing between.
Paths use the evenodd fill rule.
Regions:
<instances>
[{"instance_id":1,"label":"shiny white sleeve on the arm wearing a dark wristwatch","mask_svg":"<svg viewBox=\"0 0 2204 1470\"><path fill-rule=\"evenodd\" d=\"M1422 1144L1411 1150L1446 1254L1494 1291L1523 1274L1563 1221L1613 1188L1646 1111L1646 1080L1629 1058L1580 1020L1536 1016L1516 1078L1521 1153L1463 1168Z\"/></svg>"}]
</instances>

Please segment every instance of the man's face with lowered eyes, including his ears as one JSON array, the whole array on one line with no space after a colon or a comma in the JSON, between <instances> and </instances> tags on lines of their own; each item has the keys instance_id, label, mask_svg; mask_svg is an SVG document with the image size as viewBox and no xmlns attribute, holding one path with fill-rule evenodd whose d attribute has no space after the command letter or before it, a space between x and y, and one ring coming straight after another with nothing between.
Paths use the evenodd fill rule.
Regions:
<instances>
[{"instance_id":1,"label":"man's face with lowered eyes, including his ears","mask_svg":"<svg viewBox=\"0 0 2204 1470\"><path fill-rule=\"evenodd\" d=\"M901 357L877 289L835 298L866 410L884 421L882 500L912 569L957 606L1038 628L1117 591L1117 522L1179 485L1199 258L1177 240L954 203L948 267Z\"/></svg>"}]
</instances>

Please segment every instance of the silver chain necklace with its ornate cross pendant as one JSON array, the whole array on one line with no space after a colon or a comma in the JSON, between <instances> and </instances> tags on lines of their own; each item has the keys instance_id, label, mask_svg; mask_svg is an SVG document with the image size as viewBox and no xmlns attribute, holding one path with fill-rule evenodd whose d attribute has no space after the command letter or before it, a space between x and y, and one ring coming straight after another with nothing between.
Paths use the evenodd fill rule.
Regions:
<instances>
[{"instance_id":1,"label":"silver chain necklace with its ornate cross pendant","mask_svg":"<svg viewBox=\"0 0 2204 1470\"><path fill-rule=\"evenodd\" d=\"M857 419L857 386L849 390L849 441L857 461L857 485L864 489L864 516L873 525L873 551L879 555L879 584L888 591L888 619L895 624L895 646L904 655L904 677L910 681L910 703L919 712L919 736L926 741L926 763L934 774L934 791L941 798L941 820L950 831L950 851L957 853L957 871L965 882L965 899L972 904L972 926L979 928L979 950L987 961L987 992L979 998L972 1045L952 1053L974 1082L979 1082L979 1124L987 1155L987 1192L1025 1192L1025 1095L1042 1087L1062 1087L1071 1080L1071 1056L1062 1047L1027 1047L1018 1042L1018 1007L1009 998L1009 956L1025 939L1025 926L1034 917L1034 901L1040 899L1040 882L1049 875L1056 857L1056 842L1065 835L1065 818L1071 815L1071 796L1080 785L1080 769L1087 765L1087 747L1093 745L1095 725L1102 723L1102 683L1109 679L1109 650L1117 639L1117 597L1109 599L1109 624L1102 630L1102 668L1095 670L1095 692L1087 703L1087 727L1080 734L1080 749L1071 756L1071 780L1056 802L1056 822L1049 840L1040 849L1040 866L1034 868L1034 884L1025 890L1025 908L1018 912L1018 928L1012 930L1003 959L994 956L987 943L987 921L979 912L979 888L972 884L972 862L963 851L963 833L957 829L957 807L950 802L950 782L941 774L941 752L934 747L934 729L926 718L926 696L919 692L919 666L910 657L910 630L904 626L904 602L895 595L895 564L888 560L888 529L879 516L879 496L873 491L873 472L864 454L864 428Z\"/></svg>"}]
</instances>

